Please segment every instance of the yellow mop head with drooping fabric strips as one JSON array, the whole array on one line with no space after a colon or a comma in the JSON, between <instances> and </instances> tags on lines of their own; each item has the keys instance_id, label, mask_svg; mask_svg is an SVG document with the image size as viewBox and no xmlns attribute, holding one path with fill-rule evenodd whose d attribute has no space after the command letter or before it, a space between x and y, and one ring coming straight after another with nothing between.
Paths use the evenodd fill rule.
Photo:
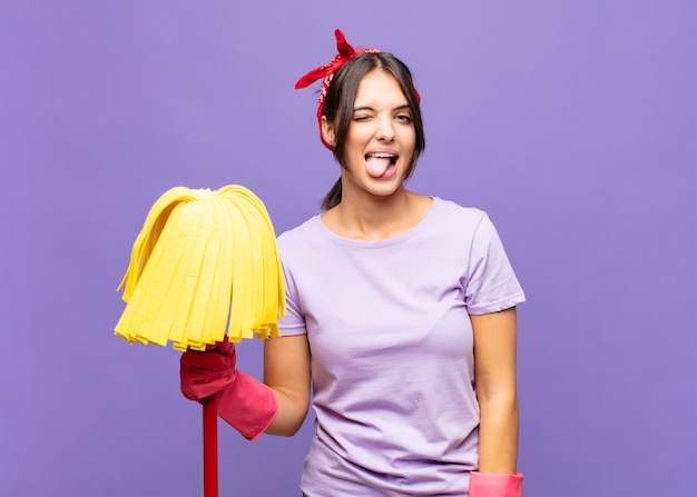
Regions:
<instances>
[{"instance_id":1,"label":"yellow mop head with drooping fabric strips","mask_svg":"<svg viewBox=\"0 0 697 497\"><path fill-rule=\"evenodd\" d=\"M131 344L204 350L226 330L230 341L277 337L285 315L273 225L239 185L166 191L134 243L124 286L115 331Z\"/></svg>"}]
</instances>

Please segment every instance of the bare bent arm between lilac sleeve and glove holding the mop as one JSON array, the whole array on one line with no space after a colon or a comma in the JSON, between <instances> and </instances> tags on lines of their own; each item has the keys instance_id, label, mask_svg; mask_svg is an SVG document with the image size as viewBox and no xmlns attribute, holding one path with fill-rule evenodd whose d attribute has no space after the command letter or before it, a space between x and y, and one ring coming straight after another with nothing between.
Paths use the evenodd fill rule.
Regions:
<instances>
[{"instance_id":1,"label":"bare bent arm between lilac sleeve and glove holding the mop","mask_svg":"<svg viewBox=\"0 0 697 497\"><path fill-rule=\"evenodd\" d=\"M310 344L307 335L269 338L264 342L264 382L278 400L269 435L294 435L310 407Z\"/></svg>"}]
</instances>

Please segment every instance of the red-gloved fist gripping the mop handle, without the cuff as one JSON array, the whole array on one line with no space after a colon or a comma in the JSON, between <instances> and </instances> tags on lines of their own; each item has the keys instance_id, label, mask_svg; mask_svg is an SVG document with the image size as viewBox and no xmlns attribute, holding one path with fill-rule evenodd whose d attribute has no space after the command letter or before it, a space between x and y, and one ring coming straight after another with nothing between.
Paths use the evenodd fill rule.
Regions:
<instances>
[{"instance_id":1,"label":"red-gloved fist gripping the mop handle, without the cuff","mask_svg":"<svg viewBox=\"0 0 697 497\"><path fill-rule=\"evenodd\" d=\"M224 341L204 351L187 350L179 360L181 394L192 400L202 400L229 388L237 375L235 346Z\"/></svg>"}]
</instances>

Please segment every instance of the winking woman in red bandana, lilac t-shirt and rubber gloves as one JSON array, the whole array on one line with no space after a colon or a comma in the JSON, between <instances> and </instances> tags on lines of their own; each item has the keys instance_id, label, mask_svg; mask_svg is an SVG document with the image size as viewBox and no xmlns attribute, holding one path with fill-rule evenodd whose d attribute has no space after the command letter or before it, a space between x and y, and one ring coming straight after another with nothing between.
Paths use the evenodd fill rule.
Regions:
<instances>
[{"instance_id":1,"label":"winking woman in red bandana, lilac t-shirt and rubber gloves","mask_svg":"<svg viewBox=\"0 0 697 497\"><path fill-rule=\"evenodd\" d=\"M188 398L218 396L245 437L291 436L312 405L307 497L520 496L516 306L523 292L484 212L405 188L425 146L420 97L394 56L338 54L322 142L341 166L324 212L283 233L283 337L264 384L232 344L181 357Z\"/></svg>"}]
</instances>

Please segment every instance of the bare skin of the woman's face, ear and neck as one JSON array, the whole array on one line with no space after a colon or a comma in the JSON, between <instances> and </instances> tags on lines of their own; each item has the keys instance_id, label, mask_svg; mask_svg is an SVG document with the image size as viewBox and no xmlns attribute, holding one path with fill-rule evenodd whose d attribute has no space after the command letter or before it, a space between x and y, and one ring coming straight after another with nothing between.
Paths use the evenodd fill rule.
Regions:
<instances>
[{"instance_id":1,"label":"bare skin of the woman's face, ear and neck","mask_svg":"<svg viewBox=\"0 0 697 497\"><path fill-rule=\"evenodd\" d=\"M332 125L325 120L324 139L334 143ZM414 152L416 135L406 97L396 80L383 72L369 72L356 92L353 121L345 143L342 168L342 201L322 215L335 233L355 240L380 240L414 227L428 213L432 199L408 191L403 177ZM396 172L372 178L365 156L396 153Z\"/></svg>"}]
</instances>

